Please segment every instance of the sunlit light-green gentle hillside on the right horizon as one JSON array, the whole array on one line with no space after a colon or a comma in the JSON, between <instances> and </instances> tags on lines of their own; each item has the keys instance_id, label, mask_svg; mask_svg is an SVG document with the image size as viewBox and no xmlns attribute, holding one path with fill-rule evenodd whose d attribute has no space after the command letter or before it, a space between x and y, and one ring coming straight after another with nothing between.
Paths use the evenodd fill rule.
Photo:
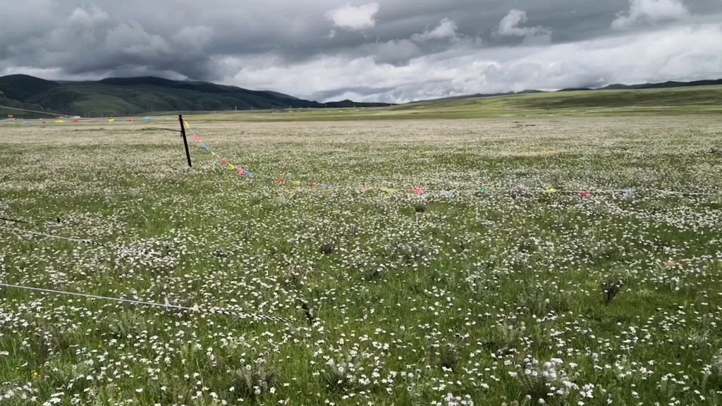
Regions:
<instances>
[{"instance_id":1,"label":"sunlit light-green gentle hillside on the right horizon","mask_svg":"<svg viewBox=\"0 0 722 406\"><path fill-rule=\"evenodd\" d=\"M213 120L391 120L542 116L722 114L722 86L536 92L407 103L388 108L215 115ZM196 118L197 120L198 118Z\"/></svg>"}]
</instances>

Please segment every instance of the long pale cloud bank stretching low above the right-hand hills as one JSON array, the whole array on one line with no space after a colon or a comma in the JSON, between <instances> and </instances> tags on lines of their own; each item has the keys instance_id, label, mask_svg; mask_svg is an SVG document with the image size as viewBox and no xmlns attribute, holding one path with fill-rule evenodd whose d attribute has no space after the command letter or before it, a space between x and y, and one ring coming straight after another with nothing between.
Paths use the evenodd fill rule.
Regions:
<instances>
[{"instance_id":1,"label":"long pale cloud bank stretching low above the right-hand hills","mask_svg":"<svg viewBox=\"0 0 722 406\"><path fill-rule=\"evenodd\" d=\"M392 65L374 56L322 55L288 64L271 54L227 57L224 82L302 98L355 95L407 102L473 93L604 86L722 77L722 26L667 27L651 33L546 46L474 48ZM237 72L237 73L236 73Z\"/></svg>"}]
</instances>

